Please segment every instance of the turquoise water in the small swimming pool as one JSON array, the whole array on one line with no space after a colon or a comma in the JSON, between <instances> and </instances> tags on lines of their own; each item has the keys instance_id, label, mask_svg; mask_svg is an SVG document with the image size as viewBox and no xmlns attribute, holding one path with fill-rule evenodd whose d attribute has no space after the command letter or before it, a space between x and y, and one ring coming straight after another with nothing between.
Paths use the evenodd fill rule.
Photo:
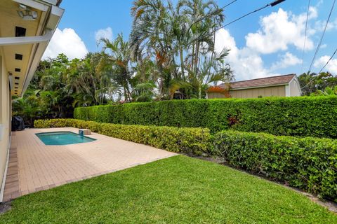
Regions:
<instances>
[{"instance_id":1,"label":"turquoise water in the small swimming pool","mask_svg":"<svg viewBox=\"0 0 337 224\"><path fill-rule=\"evenodd\" d=\"M73 132L44 132L38 133L37 137L47 146L62 146L95 141L89 137L80 136Z\"/></svg>"}]
</instances>

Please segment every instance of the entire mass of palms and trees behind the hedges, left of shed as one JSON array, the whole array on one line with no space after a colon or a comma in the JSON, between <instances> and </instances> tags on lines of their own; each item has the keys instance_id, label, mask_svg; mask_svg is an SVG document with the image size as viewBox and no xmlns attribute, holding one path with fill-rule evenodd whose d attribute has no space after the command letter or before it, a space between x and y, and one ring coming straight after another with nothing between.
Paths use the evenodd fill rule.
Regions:
<instances>
[{"instance_id":1,"label":"entire mass of palms and trees behind the hedges, left of shed","mask_svg":"<svg viewBox=\"0 0 337 224\"><path fill-rule=\"evenodd\" d=\"M224 15L214 1L134 1L131 35L103 38L83 59L59 55L40 63L13 111L36 118L71 118L74 106L204 98L232 80L227 49L215 48ZM127 41L126 41L127 39Z\"/></svg>"}]
</instances>

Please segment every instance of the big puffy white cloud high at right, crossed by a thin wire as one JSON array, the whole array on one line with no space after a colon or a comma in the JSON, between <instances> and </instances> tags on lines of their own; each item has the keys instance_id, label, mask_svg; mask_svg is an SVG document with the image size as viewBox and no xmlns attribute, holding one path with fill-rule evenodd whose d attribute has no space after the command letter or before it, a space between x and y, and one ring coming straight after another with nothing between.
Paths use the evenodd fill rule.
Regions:
<instances>
[{"instance_id":1,"label":"big puffy white cloud high at right, crossed by a thin wire","mask_svg":"<svg viewBox=\"0 0 337 224\"><path fill-rule=\"evenodd\" d=\"M308 20L313 18L317 18L317 10L314 7L310 7ZM247 34L246 45L262 54L288 50L289 45L302 49L305 36L305 20L306 13L292 15L279 8L277 12L273 12L260 20L261 28L256 33ZM315 34L315 30L309 27L306 43L307 50L311 50L314 47L310 39L312 34Z\"/></svg>"}]
</instances>

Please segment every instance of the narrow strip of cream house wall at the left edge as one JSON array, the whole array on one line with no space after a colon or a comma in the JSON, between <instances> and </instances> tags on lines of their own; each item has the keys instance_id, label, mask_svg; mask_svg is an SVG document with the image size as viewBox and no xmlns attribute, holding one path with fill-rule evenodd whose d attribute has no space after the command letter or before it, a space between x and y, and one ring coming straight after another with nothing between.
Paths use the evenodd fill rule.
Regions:
<instances>
[{"instance_id":1,"label":"narrow strip of cream house wall at the left edge","mask_svg":"<svg viewBox=\"0 0 337 224\"><path fill-rule=\"evenodd\" d=\"M0 202L11 134L11 92L4 57L0 52Z\"/></svg>"}]
</instances>

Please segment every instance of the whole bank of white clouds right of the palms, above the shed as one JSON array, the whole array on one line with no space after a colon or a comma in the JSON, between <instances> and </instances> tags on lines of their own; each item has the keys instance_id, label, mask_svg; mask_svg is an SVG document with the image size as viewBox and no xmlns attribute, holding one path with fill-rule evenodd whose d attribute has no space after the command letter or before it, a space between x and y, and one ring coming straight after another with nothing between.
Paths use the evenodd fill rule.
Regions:
<instances>
[{"instance_id":1,"label":"whole bank of white clouds right of the palms, above the shed","mask_svg":"<svg viewBox=\"0 0 337 224\"><path fill-rule=\"evenodd\" d=\"M317 6L309 8L308 29L305 50L315 48L312 39L317 30L312 28L312 20L317 19ZM277 76L278 69L286 69L302 63L302 60L289 52L289 47L295 46L300 52L303 50L305 38L306 11L293 15L282 8L260 18L260 29L245 36L246 45L238 47L230 32L220 29L216 33L216 50L230 49L227 62L230 64L237 80ZM315 23L314 23L315 25ZM314 26L316 28L316 26ZM262 55L275 54L286 51L279 59L266 66ZM275 55L271 55L275 57Z\"/></svg>"}]
</instances>

